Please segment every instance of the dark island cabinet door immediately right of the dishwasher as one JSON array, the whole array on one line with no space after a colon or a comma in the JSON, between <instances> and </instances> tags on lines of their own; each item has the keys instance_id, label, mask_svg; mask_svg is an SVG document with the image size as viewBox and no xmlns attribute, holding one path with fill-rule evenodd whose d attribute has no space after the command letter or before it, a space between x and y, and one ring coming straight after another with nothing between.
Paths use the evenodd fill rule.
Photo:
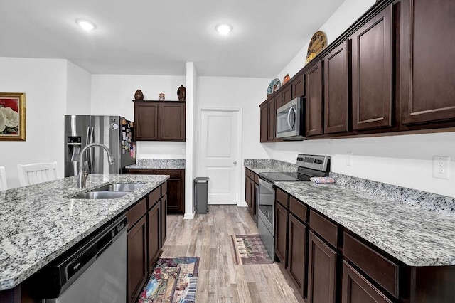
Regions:
<instances>
[{"instance_id":1,"label":"dark island cabinet door immediately right of the dishwasher","mask_svg":"<svg viewBox=\"0 0 455 303\"><path fill-rule=\"evenodd\" d=\"M147 220L143 216L127 233L128 300L136 302L147 278Z\"/></svg>"}]
</instances>

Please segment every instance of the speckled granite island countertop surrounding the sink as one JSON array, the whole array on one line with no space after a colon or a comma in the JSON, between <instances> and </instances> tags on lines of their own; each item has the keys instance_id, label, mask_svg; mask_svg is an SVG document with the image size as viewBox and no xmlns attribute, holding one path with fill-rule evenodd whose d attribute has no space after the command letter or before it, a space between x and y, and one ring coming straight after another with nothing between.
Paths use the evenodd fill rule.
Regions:
<instances>
[{"instance_id":1,"label":"speckled granite island countertop surrounding the sink","mask_svg":"<svg viewBox=\"0 0 455 303\"><path fill-rule=\"evenodd\" d=\"M166 181L165 175L90 175L0 191L0 291L19 285L140 198ZM104 184L146 184L114 199L70 199Z\"/></svg>"}]
</instances>

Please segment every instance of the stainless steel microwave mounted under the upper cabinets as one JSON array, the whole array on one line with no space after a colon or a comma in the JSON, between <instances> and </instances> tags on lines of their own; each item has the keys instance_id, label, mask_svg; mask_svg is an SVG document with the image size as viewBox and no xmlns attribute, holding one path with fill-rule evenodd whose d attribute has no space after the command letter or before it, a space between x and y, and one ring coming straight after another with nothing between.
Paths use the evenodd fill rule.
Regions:
<instances>
[{"instance_id":1,"label":"stainless steel microwave mounted under the upper cabinets","mask_svg":"<svg viewBox=\"0 0 455 303\"><path fill-rule=\"evenodd\" d=\"M277 110L277 138L284 140L305 139L304 99L297 97Z\"/></svg>"}]
</instances>

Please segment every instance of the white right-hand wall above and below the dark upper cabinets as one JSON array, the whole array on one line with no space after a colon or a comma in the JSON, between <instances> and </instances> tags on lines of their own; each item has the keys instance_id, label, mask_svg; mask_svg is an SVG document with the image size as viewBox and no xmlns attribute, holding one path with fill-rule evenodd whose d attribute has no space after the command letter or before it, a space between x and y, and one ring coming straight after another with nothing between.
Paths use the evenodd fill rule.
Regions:
<instances>
[{"instance_id":1,"label":"white right-hand wall above and below the dark upper cabinets","mask_svg":"<svg viewBox=\"0 0 455 303\"><path fill-rule=\"evenodd\" d=\"M328 42L335 40L357 20L374 0L346 0L321 26ZM311 37L309 37L311 38ZM308 43L279 73L291 76L303 66ZM395 184L455 197L455 133L397 135L353 139L322 139L306 142L264 144L271 159L296 163L299 152L327 154L333 157L332 171L360 178ZM346 165L346 153L352 153L352 166ZM432 157L451 157L451 179L432 177Z\"/></svg>"}]
</instances>

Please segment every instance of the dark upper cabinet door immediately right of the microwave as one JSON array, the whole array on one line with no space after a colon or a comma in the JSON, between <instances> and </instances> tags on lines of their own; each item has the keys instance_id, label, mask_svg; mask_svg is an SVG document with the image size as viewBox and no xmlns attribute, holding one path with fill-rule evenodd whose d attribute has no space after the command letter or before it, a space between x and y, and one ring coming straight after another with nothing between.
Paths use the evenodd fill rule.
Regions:
<instances>
[{"instance_id":1,"label":"dark upper cabinet door immediately right of the microwave","mask_svg":"<svg viewBox=\"0 0 455 303\"><path fill-rule=\"evenodd\" d=\"M306 137L322 134L322 61L306 72Z\"/></svg>"}]
</instances>

